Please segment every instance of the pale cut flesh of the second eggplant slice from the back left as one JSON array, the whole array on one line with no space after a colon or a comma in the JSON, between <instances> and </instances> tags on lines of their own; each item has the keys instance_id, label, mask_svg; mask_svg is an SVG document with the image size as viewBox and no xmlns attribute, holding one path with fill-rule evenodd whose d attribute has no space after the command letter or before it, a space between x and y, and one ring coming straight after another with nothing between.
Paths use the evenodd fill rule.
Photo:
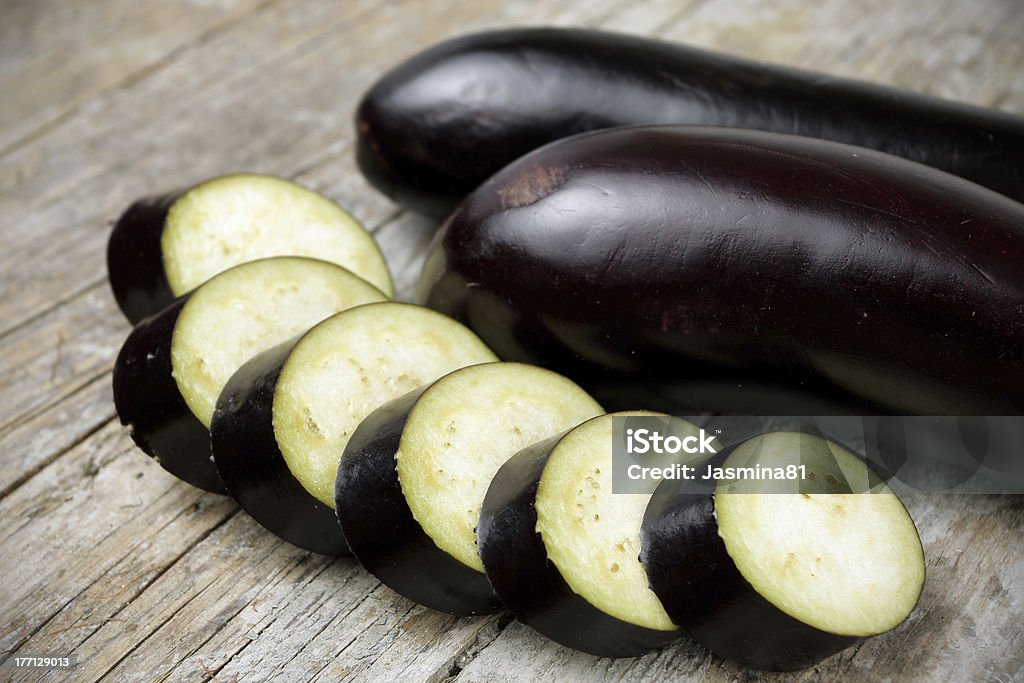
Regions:
<instances>
[{"instance_id":1,"label":"pale cut flesh of the second eggplant slice from the back left","mask_svg":"<svg viewBox=\"0 0 1024 683\"><path fill-rule=\"evenodd\" d=\"M387 297L348 270L310 258L252 261L196 290L171 337L171 371L188 410L209 429L234 371L260 351L346 308Z\"/></svg>"}]
</instances>

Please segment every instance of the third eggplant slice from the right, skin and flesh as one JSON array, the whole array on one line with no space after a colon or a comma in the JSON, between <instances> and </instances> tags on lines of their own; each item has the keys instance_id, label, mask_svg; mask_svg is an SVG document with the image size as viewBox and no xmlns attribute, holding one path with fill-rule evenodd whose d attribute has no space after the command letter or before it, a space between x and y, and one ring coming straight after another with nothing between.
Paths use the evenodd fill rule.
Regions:
<instances>
[{"instance_id":1,"label":"third eggplant slice from the right, skin and flesh","mask_svg":"<svg viewBox=\"0 0 1024 683\"><path fill-rule=\"evenodd\" d=\"M382 405L338 469L335 509L352 553L433 609L501 609L476 546L487 485L521 449L602 413L572 382L512 362L457 370Z\"/></svg>"}]
</instances>

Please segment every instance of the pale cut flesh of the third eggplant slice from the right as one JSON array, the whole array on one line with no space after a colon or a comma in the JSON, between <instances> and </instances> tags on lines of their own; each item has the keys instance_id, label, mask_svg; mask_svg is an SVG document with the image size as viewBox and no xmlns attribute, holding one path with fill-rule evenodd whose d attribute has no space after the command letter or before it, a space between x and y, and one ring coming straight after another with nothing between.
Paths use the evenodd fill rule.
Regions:
<instances>
[{"instance_id":1,"label":"pale cut flesh of the third eggplant slice from the right","mask_svg":"<svg viewBox=\"0 0 1024 683\"><path fill-rule=\"evenodd\" d=\"M495 362L447 375L420 396L401 433L398 479L413 517L438 548L482 572L476 525L499 468L602 412L569 380L532 366Z\"/></svg>"}]
</instances>

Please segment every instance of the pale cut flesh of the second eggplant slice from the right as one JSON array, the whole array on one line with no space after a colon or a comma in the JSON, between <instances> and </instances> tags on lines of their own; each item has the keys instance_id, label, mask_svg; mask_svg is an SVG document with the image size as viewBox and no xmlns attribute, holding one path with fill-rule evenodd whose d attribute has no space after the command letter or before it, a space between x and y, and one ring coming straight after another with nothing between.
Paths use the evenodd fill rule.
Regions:
<instances>
[{"instance_id":1,"label":"pale cut flesh of the second eggplant slice from the right","mask_svg":"<svg viewBox=\"0 0 1024 683\"><path fill-rule=\"evenodd\" d=\"M537 530L577 595L624 622L673 631L677 627L650 590L639 559L650 495L611 492L613 415L585 422L552 450L537 492ZM695 436L699 429L675 420L673 433Z\"/></svg>"}]
</instances>

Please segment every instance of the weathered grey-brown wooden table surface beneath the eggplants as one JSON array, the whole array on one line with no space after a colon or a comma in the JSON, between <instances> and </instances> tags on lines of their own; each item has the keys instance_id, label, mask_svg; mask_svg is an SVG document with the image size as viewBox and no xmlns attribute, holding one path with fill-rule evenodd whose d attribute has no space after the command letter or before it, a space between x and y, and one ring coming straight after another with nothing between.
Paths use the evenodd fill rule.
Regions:
<instances>
[{"instance_id":1,"label":"weathered grey-brown wooden table surface beneath the eggplants","mask_svg":"<svg viewBox=\"0 0 1024 683\"><path fill-rule=\"evenodd\" d=\"M5 0L0 5L0 651L52 680L752 680L682 641L633 659L507 615L416 606L180 483L114 415L128 333L105 282L134 198L236 170L295 178L373 228L411 296L435 225L373 191L351 113L442 38L602 27L1024 113L1016 0ZM805 680L1021 680L1024 501L915 497L929 579L894 632ZM41 672L0 669L0 679Z\"/></svg>"}]
</instances>

